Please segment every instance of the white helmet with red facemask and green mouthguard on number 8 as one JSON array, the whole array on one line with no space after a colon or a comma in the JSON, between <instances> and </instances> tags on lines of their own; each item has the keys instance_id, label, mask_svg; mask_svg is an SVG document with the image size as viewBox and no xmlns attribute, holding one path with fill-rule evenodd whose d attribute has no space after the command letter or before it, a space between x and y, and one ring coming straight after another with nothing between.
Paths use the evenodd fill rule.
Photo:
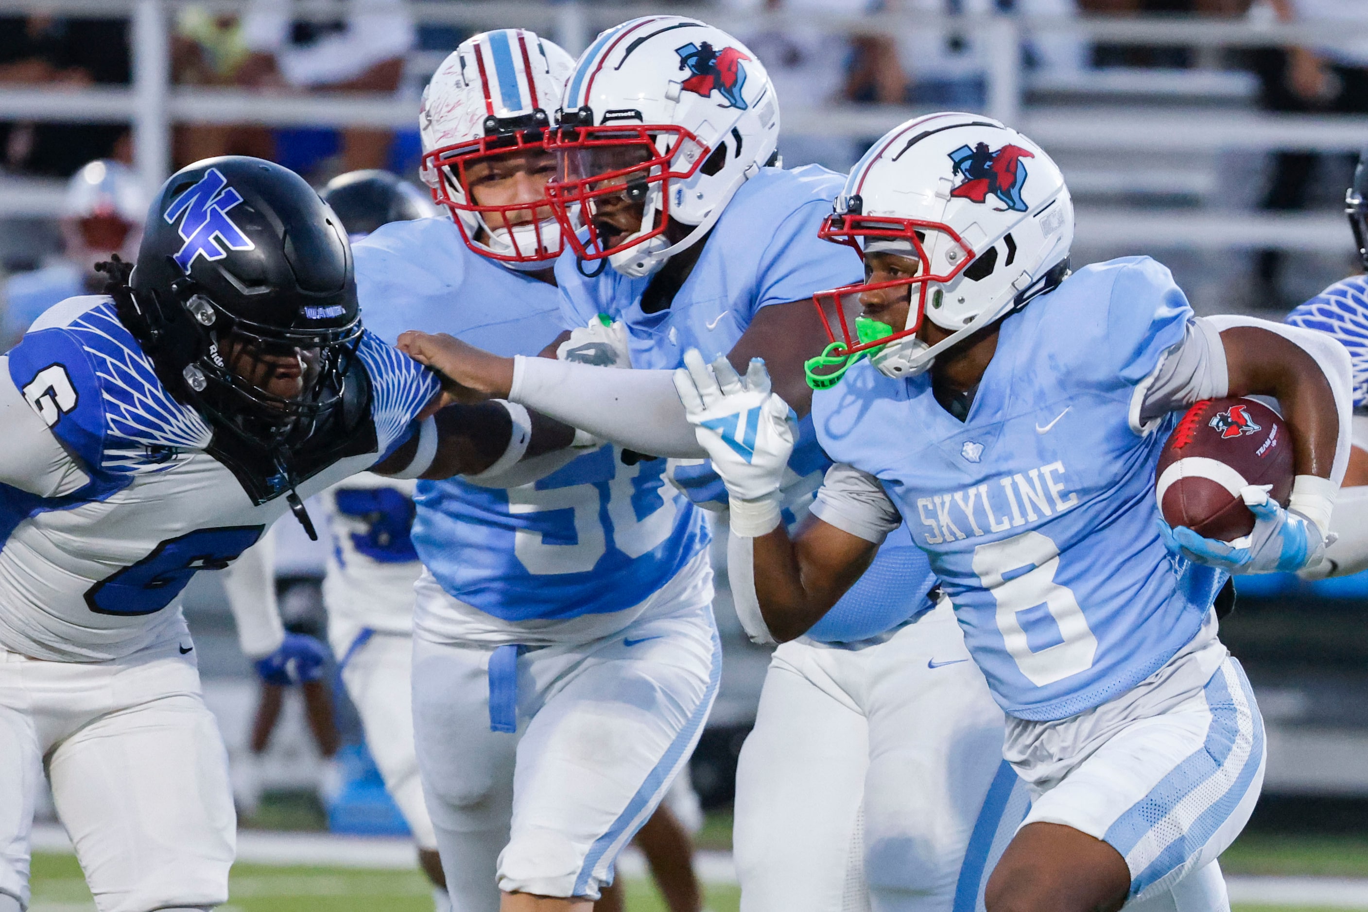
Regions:
<instances>
[{"instance_id":1,"label":"white helmet with red facemask and green mouthguard on number 8","mask_svg":"<svg viewBox=\"0 0 1368 912\"><path fill-rule=\"evenodd\" d=\"M815 295L819 309L836 310L840 335L828 323L832 345L814 358L824 364L810 362L810 381L833 384L859 353L884 375L906 377L1064 279L1074 204L1059 168L1022 134L979 115L933 113L896 127L865 153L819 235L862 257L915 257L919 269L911 279ZM852 335L859 297L893 286L912 295L907 324L862 319ZM923 319L951 335L928 346L917 338Z\"/></svg>"}]
</instances>

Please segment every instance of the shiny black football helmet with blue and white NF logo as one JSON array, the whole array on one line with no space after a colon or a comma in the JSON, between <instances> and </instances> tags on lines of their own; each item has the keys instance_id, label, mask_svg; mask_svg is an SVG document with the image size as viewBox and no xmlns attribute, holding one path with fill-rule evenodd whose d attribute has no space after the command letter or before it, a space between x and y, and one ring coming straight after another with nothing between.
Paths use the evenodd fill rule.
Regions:
<instances>
[{"instance_id":1,"label":"shiny black football helmet with blue and white NF logo","mask_svg":"<svg viewBox=\"0 0 1368 912\"><path fill-rule=\"evenodd\" d=\"M338 216L246 156L182 168L148 213L120 319L174 395L283 464L343 399L361 320Z\"/></svg>"}]
</instances>

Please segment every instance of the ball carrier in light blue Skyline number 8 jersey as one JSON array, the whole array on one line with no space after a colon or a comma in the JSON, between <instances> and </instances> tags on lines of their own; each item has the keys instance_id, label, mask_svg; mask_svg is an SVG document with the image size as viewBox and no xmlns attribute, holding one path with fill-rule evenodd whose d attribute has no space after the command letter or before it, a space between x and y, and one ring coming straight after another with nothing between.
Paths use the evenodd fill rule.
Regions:
<instances>
[{"instance_id":1,"label":"ball carrier in light blue Skyline number 8 jersey","mask_svg":"<svg viewBox=\"0 0 1368 912\"><path fill-rule=\"evenodd\" d=\"M906 520L1033 797L989 912L1227 908L1213 863L1259 797L1264 732L1212 603L1228 573L1319 559L1349 450L1343 350L1197 319L1146 257L1070 275L1059 170L978 115L919 118L876 142L822 235L855 246L866 278L819 295L833 347L814 364L813 414L836 465L796 539L774 506L795 429L765 366L743 379L688 353L676 372L733 517L744 505L732 577L787 640ZM1170 529L1155 465L1178 413L1245 394L1275 397L1291 428L1289 507L1246 487L1246 539Z\"/></svg>"}]
</instances>

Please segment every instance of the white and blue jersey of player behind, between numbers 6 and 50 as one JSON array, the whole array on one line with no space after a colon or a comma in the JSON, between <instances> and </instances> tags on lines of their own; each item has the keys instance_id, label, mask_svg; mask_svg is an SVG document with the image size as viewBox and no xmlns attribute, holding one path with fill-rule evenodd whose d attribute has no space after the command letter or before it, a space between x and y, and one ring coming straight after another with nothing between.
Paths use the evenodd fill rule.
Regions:
<instances>
[{"instance_id":1,"label":"white and blue jersey of player behind, between numbers 6 and 50","mask_svg":"<svg viewBox=\"0 0 1368 912\"><path fill-rule=\"evenodd\" d=\"M413 584L423 573L410 536L415 484L363 472L323 494L332 533L323 578L330 623L413 630Z\"/></svg>"}]
</instances>

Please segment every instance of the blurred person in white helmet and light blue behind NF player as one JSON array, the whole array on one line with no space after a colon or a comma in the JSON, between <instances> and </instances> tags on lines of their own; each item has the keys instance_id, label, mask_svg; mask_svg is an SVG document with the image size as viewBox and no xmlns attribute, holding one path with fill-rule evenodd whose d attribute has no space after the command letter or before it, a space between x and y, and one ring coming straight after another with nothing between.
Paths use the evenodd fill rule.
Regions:
<instances>
[{"instance_id":1,"label":"blurred person in white helmet and light blue behind NF player","mask_svg":"<svg viewBox=\"0 0 1368 912\"><path fill-rule=\"evenodd\" d=\"M94 271L94 264L111 253L134 258L149 202L142 182L127 165L101 159L77 171L62 205L62 257L5 283L0 350L14 346L52 305L103 290L105 276Z\"/></svg>"}]
</instances>

